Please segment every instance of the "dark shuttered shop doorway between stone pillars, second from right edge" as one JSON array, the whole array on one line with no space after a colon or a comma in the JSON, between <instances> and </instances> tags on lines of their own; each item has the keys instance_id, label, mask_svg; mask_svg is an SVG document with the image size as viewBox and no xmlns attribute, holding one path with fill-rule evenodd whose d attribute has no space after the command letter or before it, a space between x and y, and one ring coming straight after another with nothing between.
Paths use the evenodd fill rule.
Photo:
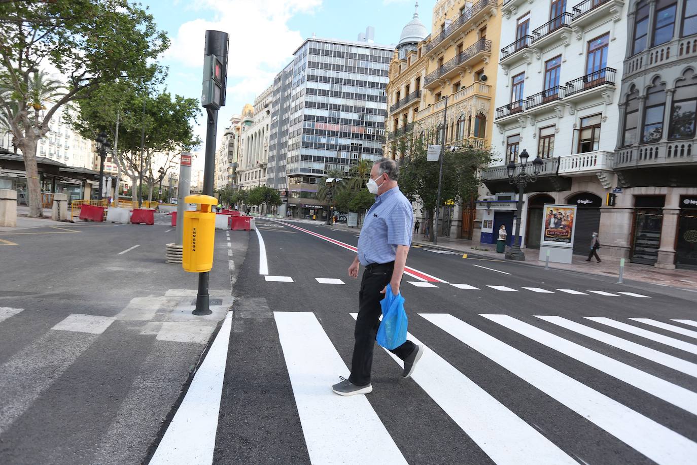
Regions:
<instances>
[{"instance_id":1,"label":"dark shuttered shop doorway between stone pillars, second from right edge","mask_svg":"<svg viewBox=\"0 0 697 465\"><path fill-rule=\"evenodd\" d=\"M634 224L631 234L632 263L654 265L658 259L663 226L663 195L642 195L634 197ZM601 238L602 241L602 238Z\"/></svg>"}]
</instances>

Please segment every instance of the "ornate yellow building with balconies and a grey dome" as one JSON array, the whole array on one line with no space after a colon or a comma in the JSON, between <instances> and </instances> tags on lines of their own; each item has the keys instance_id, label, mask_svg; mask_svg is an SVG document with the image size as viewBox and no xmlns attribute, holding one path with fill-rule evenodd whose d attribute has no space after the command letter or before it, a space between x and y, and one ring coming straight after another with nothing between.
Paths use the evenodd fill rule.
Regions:
<instances>
[{"instance_id":1,"label":"ornate yellow building with balconies and a grey dome","mask_svg":"<svg viewBox=\"0 0 697 465\"><path fill-rule=\"evenodd\" d=\"M441 144L444 119L446 144L491 146L500 26L497 0L439 0L429 36L417 10L390 63L385 156L403 156L404 139ZM471 237L474 213L455 208L444 227Z\"/></svg>"}]
</instances>

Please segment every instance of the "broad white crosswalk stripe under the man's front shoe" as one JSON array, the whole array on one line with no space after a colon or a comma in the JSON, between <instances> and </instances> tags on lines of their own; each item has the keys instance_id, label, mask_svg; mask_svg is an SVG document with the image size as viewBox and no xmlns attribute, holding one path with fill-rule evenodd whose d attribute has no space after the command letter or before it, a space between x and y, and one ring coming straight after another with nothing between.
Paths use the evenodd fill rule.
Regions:
<instances>
[{"instance_id":1,"label":"broad white crosswalk stripe under the man's front shoe","mask_svg":"<svg viewBox=\"0 0 697 465\"><path fill-rule=\"evenodd\" d=\"M348 368L314 314L274 312L274 317L310 462L370 457L376 464L406 464L365 395L332 392Z\"/></svg>"}]
</instances>

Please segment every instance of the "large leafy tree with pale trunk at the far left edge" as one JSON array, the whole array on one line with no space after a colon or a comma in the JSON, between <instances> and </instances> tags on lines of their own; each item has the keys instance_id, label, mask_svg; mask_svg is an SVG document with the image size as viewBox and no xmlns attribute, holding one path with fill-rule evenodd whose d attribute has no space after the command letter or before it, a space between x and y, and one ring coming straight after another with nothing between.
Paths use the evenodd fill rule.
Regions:
<instances>
[{"instance_id":1,"label":"large leafy tree with pale trunk at the far left edge","mask_svg":"<svg viewBox=\"0 0 697 465\"><path fill-rule=\"evenodd\" d=\"M0 1L0 29L0 107L10 115L9 129L24 157L29 216L38 217L36 146L54 114L100 84L148 82L169 39L152 15L128 0ZM36 92L31 83L43 79L45 66L66 79L65 89L48 91L46 85ZM45 100L37 101L37 95Z\"/></svg>"}]
</instances>

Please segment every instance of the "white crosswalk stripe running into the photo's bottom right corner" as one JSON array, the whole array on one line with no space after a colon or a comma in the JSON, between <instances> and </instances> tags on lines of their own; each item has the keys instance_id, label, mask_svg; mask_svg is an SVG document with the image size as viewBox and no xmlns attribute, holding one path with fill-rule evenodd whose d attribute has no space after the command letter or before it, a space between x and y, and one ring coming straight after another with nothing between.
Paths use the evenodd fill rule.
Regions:
<instances>
[{"instance_id":1,"label":"white crosswalk stripe running into the photo's bottom right corner","mask_svg":"<svg viewBox=\"0 0 697 465\"><path fill-rule=\"evenodd\" d=\"M450 314L420 314L654 462L694 464L697 443Z\"/></svg>"}]
</instances>

